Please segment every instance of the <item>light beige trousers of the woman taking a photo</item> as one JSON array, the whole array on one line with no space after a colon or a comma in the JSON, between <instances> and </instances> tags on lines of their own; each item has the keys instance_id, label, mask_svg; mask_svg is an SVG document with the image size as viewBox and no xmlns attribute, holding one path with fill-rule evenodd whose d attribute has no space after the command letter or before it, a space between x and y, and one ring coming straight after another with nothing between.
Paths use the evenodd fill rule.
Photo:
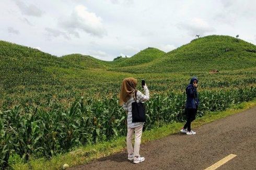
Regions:
<instances>
[{"instance_id":1,"label":"light beige trousers of the woman taking a photo","mask_svg":"<svg viewBox=\"0 0 256 170\"><path fill-rule=\"evenodd\" d=\"M141 138L142 138L142 129L143 125L127 129L127 136L126 136L126 145L127 145L127 152L128 154L133 154L134 156L139 156L139 147L141 145ZM135 134L134 134L135 131ZM132 146L133 134L135 136L134 140L134 150Z\"/></svg>"}]
</instances>

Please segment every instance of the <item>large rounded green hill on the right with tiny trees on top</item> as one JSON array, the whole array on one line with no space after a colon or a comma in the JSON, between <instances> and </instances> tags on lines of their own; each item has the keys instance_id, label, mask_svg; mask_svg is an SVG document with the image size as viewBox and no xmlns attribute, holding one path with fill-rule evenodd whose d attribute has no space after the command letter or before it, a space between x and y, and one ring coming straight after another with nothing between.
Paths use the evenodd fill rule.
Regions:
<instances>
[{"instance_id":1,"label":"large rounded green hill on the right with tiny trees on top","mask_svg":"<svg viewBox=\"0 0 256 170\"><path fill-rule=\"evenodd\" d=\"M256 66L256 46L223 35L192 40L143 67L112 68L124 72L191 72L235 70Z\"/></svg>"}]
</instances>

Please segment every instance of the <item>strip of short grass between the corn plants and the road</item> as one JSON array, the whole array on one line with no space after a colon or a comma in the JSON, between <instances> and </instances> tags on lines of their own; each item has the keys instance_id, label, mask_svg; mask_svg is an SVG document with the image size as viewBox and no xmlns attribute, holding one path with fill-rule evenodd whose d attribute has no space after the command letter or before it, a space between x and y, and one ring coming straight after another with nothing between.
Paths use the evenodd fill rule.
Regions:
<instances>
[{"instance_id":1,"label":"strip of short grass between the corn plants and the road","mask_svg":"<svg viewBox=\"0 0 256 170\"><path fill-rule=\"evenodd\" d=\"M234 105L223 112L209 112L203 117L196 118L196 120L194 120L192 123L192 126L199 127L204 124L214 122L214 120L240 113L254 106L256 106L256 100ZM183 123L171 123L149 131L144 131L142 144L177 133L182 126ZM125 137L119 137L116 140L101 142L94 145L87 145L86 147L77 148L74 151L66 154L53 156L50 161L45 159L30 159L29 163L18 163L12 165L11 167L14 169L60 169L63 164L68 164L69 166L86 164L95 159L99 159L100 157L124 151L126 147L125 140Z\"/></svg>"}]
</instances>

